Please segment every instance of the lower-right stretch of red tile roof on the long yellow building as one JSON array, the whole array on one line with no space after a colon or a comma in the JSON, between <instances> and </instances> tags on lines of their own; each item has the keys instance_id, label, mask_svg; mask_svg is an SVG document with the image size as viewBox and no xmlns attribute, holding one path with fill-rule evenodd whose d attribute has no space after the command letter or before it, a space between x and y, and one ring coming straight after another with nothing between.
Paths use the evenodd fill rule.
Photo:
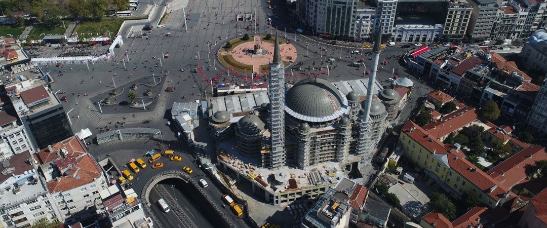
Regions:
<instances>
[{"instance_id":1,"label":"lower-right stretch of red tile roof on the long yellow building","mask_svg":"<svg viewBox=\"0 0 547 228\"><path fill-rule=\"evenodd\" d=\"M453 154L449 154L448 157L450 168L459 173L469 182L473 183L475 186L477 186L477 188L482 190L482 192L490 195L490 197L492 197L494 200L499 200L499 198L501 198L505 192L509 192L511 196L515 196L513 192L509 191L509 188L505 187L497 180L494 180L482 170L476 168L476 166L468 160L460 159ZM492 192L490 192L491 189L493 189Z\"/></svg>"}]
</instances>

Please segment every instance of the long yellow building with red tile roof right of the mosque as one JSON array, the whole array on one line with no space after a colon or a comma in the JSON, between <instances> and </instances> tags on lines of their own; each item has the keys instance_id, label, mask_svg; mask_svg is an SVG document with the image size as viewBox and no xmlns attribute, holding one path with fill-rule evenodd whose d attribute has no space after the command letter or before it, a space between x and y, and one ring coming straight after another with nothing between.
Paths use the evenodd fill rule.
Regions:
<instances>
[{"instance_id":1,"label":"long yellow building with red tile roof right of the mosque","mask_svg":"<svg viewBox=\"0 0 547 228\"><path fill-rule=\"evenodd\" d=\"M507 200L515 194L465 160L465 155L457 147L444 144L411 120L407 121L399 135L395 153L405 156L408 161L424 172L449 192L459 198L464 190L475 192L479 202L490 208Z\"/></svg>"}]
</instances>

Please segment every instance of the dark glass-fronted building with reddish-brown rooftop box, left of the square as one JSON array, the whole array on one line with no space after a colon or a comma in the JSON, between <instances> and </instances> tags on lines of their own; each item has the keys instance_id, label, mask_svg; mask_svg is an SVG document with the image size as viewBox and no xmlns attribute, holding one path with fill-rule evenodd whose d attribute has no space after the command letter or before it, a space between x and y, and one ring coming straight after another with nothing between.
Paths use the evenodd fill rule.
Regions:
<instances>
[{"instance_id":1,"label":"dark glass-fronted building with reddish-brown rooftop box, left of the square","mask_svg":"<svg viewBox=\"0 0 547 228\"><path fill-rule=\"evenodd\" d=\"M60 138L72 136L61 101L40 83L33 81L29 87L6 87L33 148L46 148Z\"/></svg>"}]
</instances>

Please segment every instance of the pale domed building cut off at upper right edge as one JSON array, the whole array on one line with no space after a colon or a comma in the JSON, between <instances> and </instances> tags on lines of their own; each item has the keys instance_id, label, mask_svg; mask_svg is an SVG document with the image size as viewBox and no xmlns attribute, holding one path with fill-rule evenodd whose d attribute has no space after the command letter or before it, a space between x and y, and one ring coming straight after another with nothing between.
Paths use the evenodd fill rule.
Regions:
<instances>
[{"instance_id":1,"label":"pale domed building cut off at upper right edge","mask_svg":"<svg viewBox=\"0 0 547 228\"><path fill-rule=\"evenodd\" d=\"M527 69L537 69L540 72L547 72L547 32L536 30L526 40L527 43L520 52L522 63Z\"/></svg>"}]
</instances>

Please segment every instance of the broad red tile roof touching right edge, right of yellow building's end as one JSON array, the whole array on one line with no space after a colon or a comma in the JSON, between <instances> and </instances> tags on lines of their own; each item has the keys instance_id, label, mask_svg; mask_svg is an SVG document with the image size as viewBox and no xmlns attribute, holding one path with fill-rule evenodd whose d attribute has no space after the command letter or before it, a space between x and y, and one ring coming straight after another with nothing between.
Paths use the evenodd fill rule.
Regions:
<instances>
[{"instance_id":1,"label":"broad red tile roof touching right edge, right of yellow building's end","mask_svg":"<svg viewBox=\"0 0 547 228\"><path fill-rule=\"evenodd\" d=\"M539 145L531 145L488 170L486 174L507 188L512 188L515 184L519 184L527 178L526 166L533 165L534 162L539 160L547 160L545 148Z\"/></svg>"}]
</instances>

